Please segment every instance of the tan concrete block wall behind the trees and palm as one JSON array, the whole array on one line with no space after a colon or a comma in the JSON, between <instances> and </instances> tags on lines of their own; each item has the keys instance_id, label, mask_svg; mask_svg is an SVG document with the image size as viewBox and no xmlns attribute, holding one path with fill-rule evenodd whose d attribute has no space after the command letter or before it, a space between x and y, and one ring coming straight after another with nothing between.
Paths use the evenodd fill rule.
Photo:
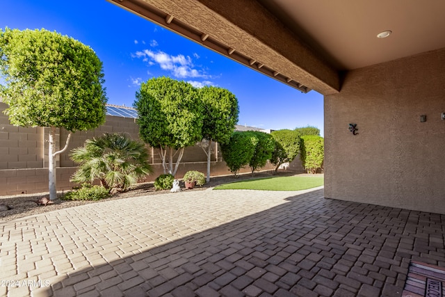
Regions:
<instances>
[{"instance_id":1,"label":"tan concrete block wall behind the trees and palm","mask_svg":"<svg viewBox=\"0 0 445 297\"><path fill-rule=\"evenodd\" d=\"M42 193L48 191L48 130L47 127L15 127L3 113L7 105L0 102L0 195L18 195L22 193ZM76 164L70 159L70 151L84 145L92 137L104 133L127 133L133 139L139 139L139 127L133 118L107 115L104 125L90 131L76 131L65 152L56 157L57 189L70 190L75 184L70 177L76 171ZM65 146L68 131L56 130L56 150ZM215 145L211 156L211 175L231 174L223 161L220 147ZM146 177L152 182L163 173L159 148L149 147L150 163L154 173ZM177 155L174 158L176 161ZM268 164L264 170L273 170ZM207 172L207 155L198 145L186 147L176 177L181 178L188 170ZM243 168L241 172L250 172ZM142 181L141 181L142 182Z\"/></svg>"}]
</instances>

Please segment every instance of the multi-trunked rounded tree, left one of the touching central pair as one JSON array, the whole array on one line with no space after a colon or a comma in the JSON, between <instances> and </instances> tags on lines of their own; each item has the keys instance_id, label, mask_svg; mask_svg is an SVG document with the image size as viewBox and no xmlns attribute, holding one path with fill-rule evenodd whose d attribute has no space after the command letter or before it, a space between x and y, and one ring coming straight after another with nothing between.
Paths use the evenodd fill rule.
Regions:
<instances>
[{"instance_id":1,"label":"multi-trunked rounded tree, left one of the touching central pair","mask_svg":"<svg viewBox=\"0 0 445 297\"><path fill-rule=\"evenodd\" d=\"M141 83L133 106L138 110L140 138L159 147L164 174L175 175L184 148L202 140L202 102L197 89L168 77L149 79Z\"/></svg>"}]
</instances>

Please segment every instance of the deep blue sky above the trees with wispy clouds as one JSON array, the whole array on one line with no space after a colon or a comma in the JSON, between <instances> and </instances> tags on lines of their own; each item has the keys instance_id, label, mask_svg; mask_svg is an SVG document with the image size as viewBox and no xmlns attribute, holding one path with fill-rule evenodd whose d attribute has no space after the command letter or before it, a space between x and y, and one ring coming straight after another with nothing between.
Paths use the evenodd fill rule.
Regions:
<instances>
[{"instance_id":1,"label":"deep blue sky above the trees with wispy clouds","mask_svg":"<svg viewBox=\"0 0 445 297\"><path fill-rule=\"evenodd\" d=\"M92 47L104 64L109 104L132 106L141 81L168 76L227 88L239 125L321 129L323 96L307 94L221 56L105 0L3 0L0 28L47 29Z\"/></svg>"}]
</instances>

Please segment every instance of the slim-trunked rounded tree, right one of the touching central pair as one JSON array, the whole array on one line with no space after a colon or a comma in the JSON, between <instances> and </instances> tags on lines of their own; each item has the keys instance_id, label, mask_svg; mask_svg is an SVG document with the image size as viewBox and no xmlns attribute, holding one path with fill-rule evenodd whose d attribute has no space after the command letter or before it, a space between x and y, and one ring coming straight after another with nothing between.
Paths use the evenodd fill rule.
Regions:
<instances>
[{"instance_id":1,"label":"slim-trunked rounded tree, right one of the touching central pair","mask_svg":"<svg viewBox=\"0 0 445 297\"><path fill-rule=\"evenodd\" d=\"M213 86L200 89L203 105L202 138L207 154L207 182L210 181L212 143L227 143L238 122L238 99L229 90Z\"/></svg>"}]
</instances>

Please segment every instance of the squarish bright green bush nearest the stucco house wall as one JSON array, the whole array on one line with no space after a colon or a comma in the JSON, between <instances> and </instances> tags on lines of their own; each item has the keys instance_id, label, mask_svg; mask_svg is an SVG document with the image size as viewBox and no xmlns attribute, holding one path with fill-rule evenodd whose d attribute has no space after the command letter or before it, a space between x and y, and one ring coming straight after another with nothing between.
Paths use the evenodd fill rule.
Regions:
<instances>
[{"instance_id":1,"label":"squarish bright green bush nearest the stucco house wall","mask_svg":"<svg viewBox=\"0 0 445 297\"><path fill-rule=\"evenodd\" d=\"M316 173L318 168L323 168L325 157L325 145L321 136L301 136L301 162L307 173Z\"/></svg>"}]
</instances>

